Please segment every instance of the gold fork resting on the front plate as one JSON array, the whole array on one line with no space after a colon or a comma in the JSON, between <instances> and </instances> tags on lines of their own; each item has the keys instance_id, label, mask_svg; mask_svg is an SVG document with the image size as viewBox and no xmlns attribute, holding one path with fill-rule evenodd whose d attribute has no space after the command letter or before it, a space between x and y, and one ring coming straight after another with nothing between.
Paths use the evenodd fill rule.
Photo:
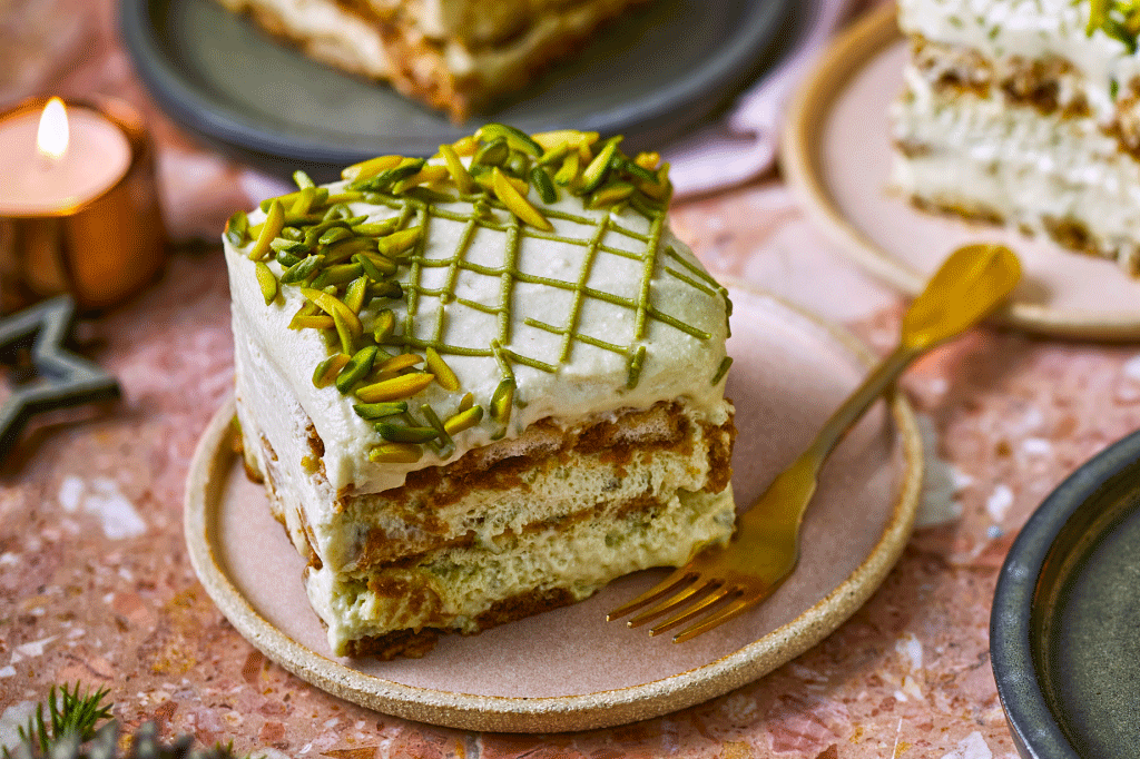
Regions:
<instances>
[{"instance_id":1,"label":"gold fork resting on the front plate","mask_svg":"<svg viewBox=\"0 0 1140 759\"><path fill-rule=\"evenodd\" d=\"M684 643L775 593L799 561L799 528L828 455L911 361L993 311L1013 289L1020 274L1017 256L1002 245L967 245L954 251L903 316L895 351L866 376L807 450L738 520L732 540L726 546L706 548L662 582L606 614L606 620L656 603L627 625L641 627L675 612L650 629L650 635L658 635L703 614L701 621L674 636L674 643Z\"/></svg>"}]
</instances>

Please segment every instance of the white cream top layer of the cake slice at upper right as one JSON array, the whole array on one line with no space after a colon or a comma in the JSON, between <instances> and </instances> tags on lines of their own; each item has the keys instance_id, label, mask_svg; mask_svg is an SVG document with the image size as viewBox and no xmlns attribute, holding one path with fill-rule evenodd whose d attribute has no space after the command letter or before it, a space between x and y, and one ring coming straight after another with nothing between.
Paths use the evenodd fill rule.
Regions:
<instances>
[{"instance_id":1,"label":"white cream top layer of the cake slice at upper right","mask_svg":"<svg viewBox=\"0 0 1140 759\"><path fill-rule=\"evenodd\" d=\"M1140 76L1140 57L1102 31L1086 33L1090 2L1081 0L899 0L907 34L962 46L997 60L1060 57L1084 74L1084 96L1100 123L1116 112L1114 92Z\"/></svg>"}]
</instances>

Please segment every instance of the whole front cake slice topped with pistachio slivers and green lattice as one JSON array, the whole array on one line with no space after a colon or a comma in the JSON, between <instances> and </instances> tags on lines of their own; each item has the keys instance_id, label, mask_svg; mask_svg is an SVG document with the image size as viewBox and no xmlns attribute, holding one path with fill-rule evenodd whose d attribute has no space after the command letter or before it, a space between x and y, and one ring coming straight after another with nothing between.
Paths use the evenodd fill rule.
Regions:
<instances>
[{"instance_id":1,"label":"whole front cake slice topped with pistachio slivers and green lattice","mask_svg":"<svg viewBox=\"0 0 1140 759\"><path fill-rule=\"evenodd\" d=\"M726 540L730 302L658 156L489 124L225 234L249 471L337 654L418 655Z\"/></svg>"}]
</instances>

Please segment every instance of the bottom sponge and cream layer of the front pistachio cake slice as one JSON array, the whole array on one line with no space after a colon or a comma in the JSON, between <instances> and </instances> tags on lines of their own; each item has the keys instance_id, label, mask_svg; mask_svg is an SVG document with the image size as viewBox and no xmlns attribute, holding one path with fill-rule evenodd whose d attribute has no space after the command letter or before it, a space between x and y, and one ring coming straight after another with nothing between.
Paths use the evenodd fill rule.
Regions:
<instances>
[{"instance_id":1,"label":"bottom sponge and cream layer of the front pistachio cake slice","mask_svg":"<svg viewBox=\"0 0 1140 759\"><path fill-rule=\"evenodd\" d=\"M310 568L306 587L329 644L343 655L352 642L393 630L478 632L513 618L503 611L512 599L581 601L622 574L685 563L726 540L734 517L730 490L677 491L641 509L505 534L489 547L431 552L414 566L357 576Z\"/></svg>"}]
</instances>

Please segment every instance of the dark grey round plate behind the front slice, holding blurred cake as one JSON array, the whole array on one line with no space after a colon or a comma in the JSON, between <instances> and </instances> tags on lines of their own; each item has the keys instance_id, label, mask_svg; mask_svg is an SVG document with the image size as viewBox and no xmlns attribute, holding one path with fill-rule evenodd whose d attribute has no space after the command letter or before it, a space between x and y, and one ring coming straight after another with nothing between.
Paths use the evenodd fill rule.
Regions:
<instances>
[{"instance_id":1,"label":"dark grey round plate behind the front slice, holding blurred cake","mask_svg":"<svg viewBox=\"0 0 1140 759\"><path fill-rule=\"evenodd\" d=\"M484 120L573 126L660 146L707 119L783 51L793 0L657 0L597 35ZM122 0L135 66L184 126L262 168L320 178L384 153L429 155L470 133L384 84L342 74L213 0Z\"/></svg>"}]
</instances>

